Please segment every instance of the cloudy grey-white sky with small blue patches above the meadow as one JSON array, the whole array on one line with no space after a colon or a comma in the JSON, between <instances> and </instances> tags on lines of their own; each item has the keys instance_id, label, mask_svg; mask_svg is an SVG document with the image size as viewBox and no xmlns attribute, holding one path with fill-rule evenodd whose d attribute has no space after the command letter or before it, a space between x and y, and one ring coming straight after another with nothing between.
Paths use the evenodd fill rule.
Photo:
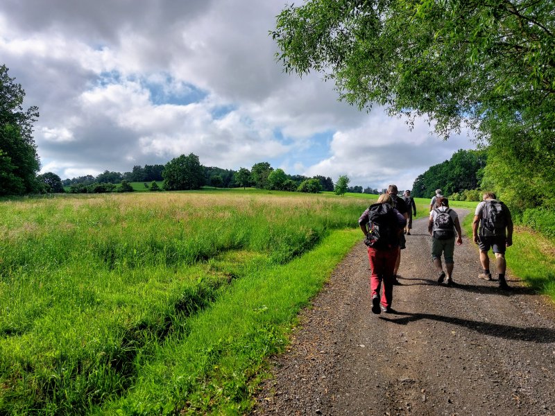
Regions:
<instances>
[{"instance_id":1,"label":"cloudy grey-white sky with small blue patches above the meadow","mask_svg":"<svg viewBox=\"0 0 555 416\"><path fill-rule=\"evenodd\" d=\"M287 75L268 31L286 0L3 0L0 64L37 105L42 172L126 172L194 153L237 170L410 188L459 148L417 122L337 101L321 76ZM297 2L298 3L298 2Z\"/></svg>"}]
</instances>

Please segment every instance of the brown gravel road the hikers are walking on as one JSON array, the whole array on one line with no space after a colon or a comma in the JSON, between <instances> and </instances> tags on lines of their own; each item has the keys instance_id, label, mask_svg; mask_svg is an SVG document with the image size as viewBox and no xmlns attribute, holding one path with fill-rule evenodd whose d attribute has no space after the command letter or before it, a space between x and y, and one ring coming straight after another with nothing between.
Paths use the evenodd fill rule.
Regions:
<instances>
[{"instance_id":1,"label":"brown gravel road the hikers are walking on","mask_svg":"<svg viewBox=\"0 0 555 416\"><path fill-rule=\"evenodd\" d=\"M360 243L302 313L253 414L555 415L554 305L510 270L509 293L477 279L466 238L455 248L456 285L438 285L427 218L413 227L393 289L398 313L370 311Z\"/></svg>"}]
</instances>

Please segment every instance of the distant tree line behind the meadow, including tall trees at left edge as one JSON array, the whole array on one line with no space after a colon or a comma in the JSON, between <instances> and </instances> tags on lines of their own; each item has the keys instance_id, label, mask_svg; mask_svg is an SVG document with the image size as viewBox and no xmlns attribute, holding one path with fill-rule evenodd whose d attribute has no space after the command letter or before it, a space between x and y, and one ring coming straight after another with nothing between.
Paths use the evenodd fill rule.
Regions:
<instances>
[{"instance_id":1,"label":"distant tree line behind the meadow, including tall trees at left edge","mask_svg":"<svg viewBox=\"0 0 555 416\"><path fill-rule=\"evenodd\" d=\"M163 189L199 189L203 185L213 187L257 187L279 191L362 192L362 187L347 188L348 178L340 177L334 187L331 177L317 175L288 175L282 169L274 169L268 162L259 162L249 171L240 168L232 171L217 167L205 167L193 153L180 155L165 165L133 166L132 171L119 173L104 171L100 175L84 175L61 180L55 173L37 175L40 160L33 140L33 123L39 116L37 107L23 110L25 92L22 86L8 76L5 65L0 67L0 195L24 193L61 193L70 187L74 193L103 193L133 191L129 182L151 182L149 189L157 189L155 181L163 180ZM346 181L345 181L346 180ZM117 187L116 184L119 184Z\"/></svg>"}]
</instances>

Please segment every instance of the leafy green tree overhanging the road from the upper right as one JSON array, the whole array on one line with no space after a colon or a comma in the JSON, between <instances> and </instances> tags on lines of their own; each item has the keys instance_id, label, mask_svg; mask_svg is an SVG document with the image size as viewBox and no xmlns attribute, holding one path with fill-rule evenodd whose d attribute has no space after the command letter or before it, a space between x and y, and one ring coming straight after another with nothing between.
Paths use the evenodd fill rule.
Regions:
<instances>
[{"instance_id":1,"label":"leafy green tree overhanging the road from the upper right","mask_svg":"<svg viewBox=\"0 0 555 416\"><path fill-rule=\"evenodd\" d=\"M540 161L534 176L552 180L554 31L551 0L307 0L284 8L272 35L286 71L323 73L351 105L422 116L445 139L466 125L495 171L520 176L521 160ZM555 200L550 183L544 201Z\"/></svg>"}]
</instances>

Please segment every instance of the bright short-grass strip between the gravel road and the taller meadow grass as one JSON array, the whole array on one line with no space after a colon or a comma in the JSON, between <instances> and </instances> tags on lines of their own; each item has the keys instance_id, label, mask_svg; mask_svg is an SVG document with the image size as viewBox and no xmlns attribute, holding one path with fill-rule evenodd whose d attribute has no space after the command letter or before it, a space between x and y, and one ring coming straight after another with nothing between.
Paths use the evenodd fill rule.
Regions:
<instances>
[{"instance_id":1,"label":"bright short-grass strip between the gravel road and the taller meadow grass","mask_svg":"<svg viewBox=\"0 0 555 416\"><path fill-rule=\"evenodd\" d=\"M187 324L187 336L157 345L132 390L105 414L244 414L264 370L281 352L298 311L321 290L358 230L337 231L283 266L259 264Z\"/></svg>"}]
</instances>

